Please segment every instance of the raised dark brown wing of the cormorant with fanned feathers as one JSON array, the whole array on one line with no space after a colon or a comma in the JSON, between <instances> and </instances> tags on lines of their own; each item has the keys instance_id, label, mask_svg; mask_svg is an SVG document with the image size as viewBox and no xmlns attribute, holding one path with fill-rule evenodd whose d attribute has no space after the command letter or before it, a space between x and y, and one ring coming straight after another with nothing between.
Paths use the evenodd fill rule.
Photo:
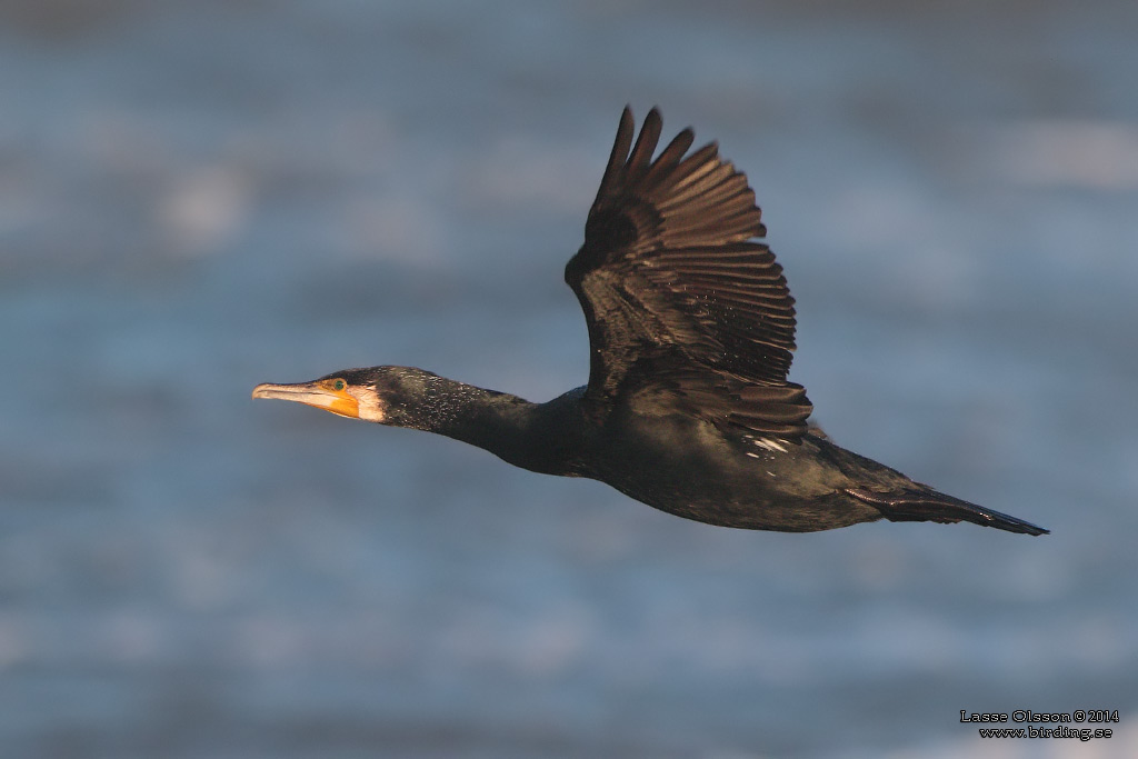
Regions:
<instances>
[{"instance_id":1,"label":"raised dark brown wing of the cormorant with fanned feathers","mask_svg":"<svg viewBox=\"0 0 1138 759\"><path fill-rule=\"evenodd\" d=\"M586 395L800 437L811 406L786 381L794 299L753 241L766 234L754 192L716 143L684 157L690 129L653 160L660 130L653 108L633 146L625 108L566 266L588 323Z\"/></svg>"}]
</instances>

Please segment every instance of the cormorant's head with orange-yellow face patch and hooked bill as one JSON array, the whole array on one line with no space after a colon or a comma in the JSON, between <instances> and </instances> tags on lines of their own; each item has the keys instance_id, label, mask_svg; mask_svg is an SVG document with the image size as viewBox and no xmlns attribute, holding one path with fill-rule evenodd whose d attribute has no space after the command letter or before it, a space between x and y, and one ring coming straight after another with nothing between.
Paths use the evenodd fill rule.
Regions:
<instances>
[{"instance_id":1,"label":"cormorant's head with orange-yellow face patch and hooked bill","mask_svg":"<svg viewBox=\"0 0 1138 759\"><path fill-rule=\"evenodd\" d=\"M253 388L254 398L295 401L340 416L409 427L404 419L428 394L437 374L410 366L346 369L295 385L265 382Z\"/></svg>"}]
</instances>

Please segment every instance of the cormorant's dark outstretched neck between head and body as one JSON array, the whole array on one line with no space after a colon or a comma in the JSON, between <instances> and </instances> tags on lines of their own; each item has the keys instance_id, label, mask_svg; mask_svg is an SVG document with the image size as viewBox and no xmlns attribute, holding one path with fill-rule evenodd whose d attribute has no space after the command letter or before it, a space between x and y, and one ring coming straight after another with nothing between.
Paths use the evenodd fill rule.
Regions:
<instances>
[{"instance_id":1,"label":"cormorant's dark outstretched neck between head and body","mask_svg":"<svg viewBox=\"0 0 1138 759\"><path fill-rule=\"evenodd\" d=\"M405 399L395 423L476 445L516 467L562 473L541 410L516 395L431 376L421 393Z\"/></svg>"}]
</instances>

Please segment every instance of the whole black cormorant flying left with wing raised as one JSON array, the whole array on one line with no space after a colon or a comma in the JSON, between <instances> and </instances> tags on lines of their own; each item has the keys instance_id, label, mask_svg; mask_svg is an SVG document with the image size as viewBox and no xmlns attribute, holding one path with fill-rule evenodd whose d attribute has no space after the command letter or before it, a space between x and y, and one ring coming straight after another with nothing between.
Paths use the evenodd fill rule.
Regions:
<instances>
[{"instance_id":1,"label":"whole black cormorant flying left with wing raised","mask_svg":"<svg viewBox=\"0 0 1138 759\"><path fill-rule=\"evenodd\" d=\"M654 159L653 108L633 145L625 108L566 266L588 324L588 385L549 403L407 366L258 385L254 398L437 432L525 469L591 477L710 525L806 533L877 519L1048 530L831 443L786 381L793 298L747 176L682 131Z\"/></svg>"}]
</instances>

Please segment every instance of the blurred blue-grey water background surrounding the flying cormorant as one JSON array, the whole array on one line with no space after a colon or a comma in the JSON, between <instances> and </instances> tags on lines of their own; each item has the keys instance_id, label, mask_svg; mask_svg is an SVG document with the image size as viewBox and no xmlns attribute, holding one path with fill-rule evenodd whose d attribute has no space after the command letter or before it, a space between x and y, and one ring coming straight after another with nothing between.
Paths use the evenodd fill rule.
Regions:
<instances>
[{"instance_id":1,"label":"blurred blue-grey water background surrounding the flying cormorant","mask_svg":"<svg viewBox=\"0 0 1138 759\"><path fill-rule=\"evenodd\" d=\"M1131 0L7 0L2 756L1138 756L1136 40ZM1053 535L712 528L249 399L584 383L626 102L748 172L831 436Z\"/></svg>"}]
</instances>

